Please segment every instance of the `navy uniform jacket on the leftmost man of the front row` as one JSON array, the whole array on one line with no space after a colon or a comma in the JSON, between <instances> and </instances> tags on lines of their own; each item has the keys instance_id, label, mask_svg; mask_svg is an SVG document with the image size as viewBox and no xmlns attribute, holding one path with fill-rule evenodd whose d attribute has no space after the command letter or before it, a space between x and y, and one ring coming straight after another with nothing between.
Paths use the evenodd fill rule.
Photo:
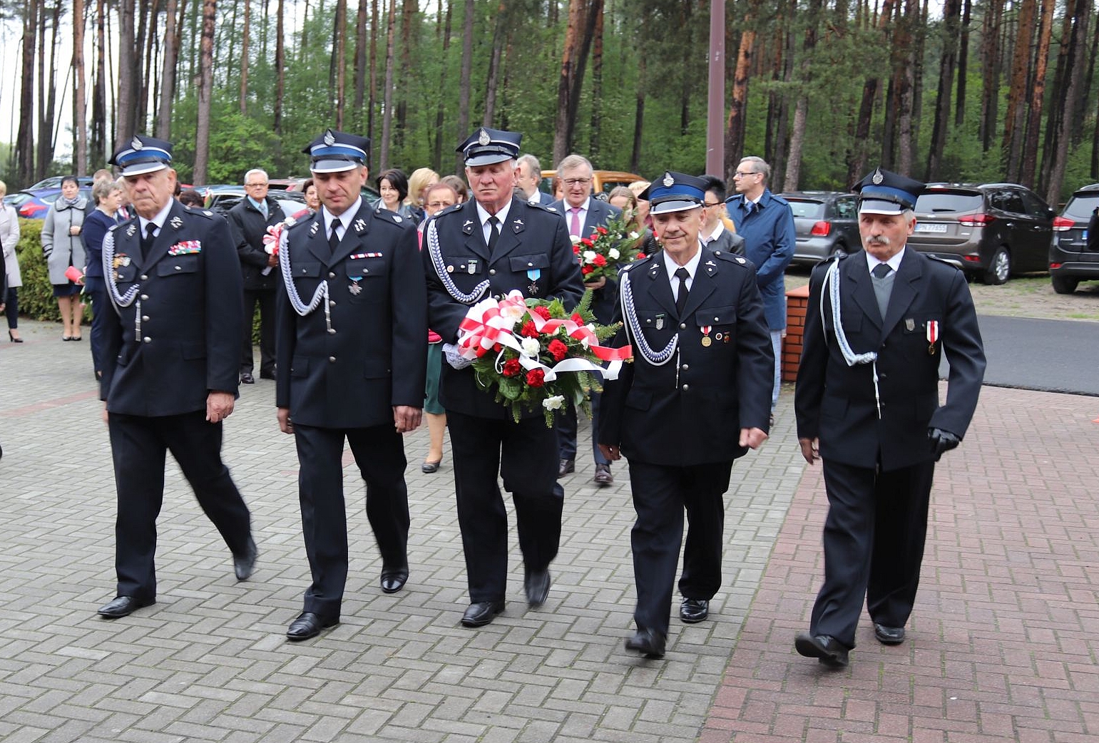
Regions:
<instances>
[{"instance_id":1,"label":"navy uniform jacket on the leftmost man of the front row","mask_svg":"<svg viewBox=\"0 0 1099 743\"><path fill-rule=\"evenodd\" d=\"M211 390L237 389L244 321L229 225L176 201L148 255L140 239L136 218L104 239L113 244L104 245L106 281L122 296L140 289L107 323L100 399L131 415L204 411Z\"/></svg>"}]
</instances>

